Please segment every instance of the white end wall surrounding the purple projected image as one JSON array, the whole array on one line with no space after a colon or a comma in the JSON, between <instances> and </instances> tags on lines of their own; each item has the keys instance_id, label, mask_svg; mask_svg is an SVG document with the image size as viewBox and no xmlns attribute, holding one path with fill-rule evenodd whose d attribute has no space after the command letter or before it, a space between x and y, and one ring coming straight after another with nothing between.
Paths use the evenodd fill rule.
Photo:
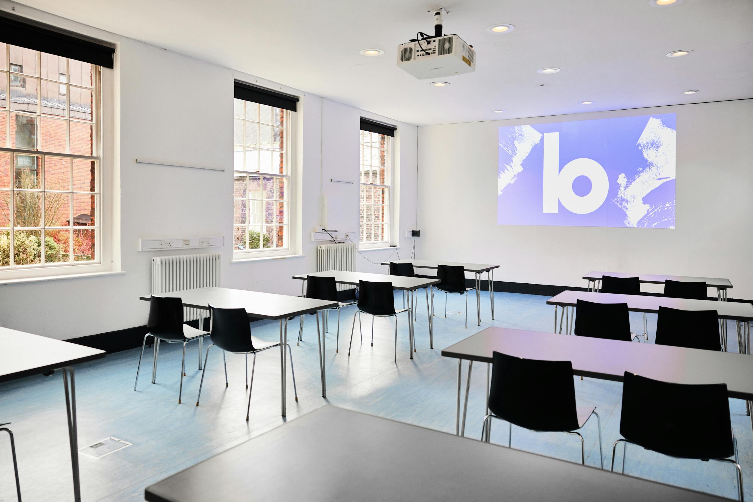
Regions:
<instances>
[{"instance_id":1,"label":"white end wall surrounding the purple projected image","mask_svg":"<svg viewBox=\"0 0 753 502\"><path fill-rule=\"evenodd\" d=\"M677 113L676 229L496 224L499 126L670 112ZM726 277L730 297L753 299L751 159L751 99L422 126L417 254L500 263L495 280L535 284L584 287L591 270Z\"/></svg>"}]
</instances>

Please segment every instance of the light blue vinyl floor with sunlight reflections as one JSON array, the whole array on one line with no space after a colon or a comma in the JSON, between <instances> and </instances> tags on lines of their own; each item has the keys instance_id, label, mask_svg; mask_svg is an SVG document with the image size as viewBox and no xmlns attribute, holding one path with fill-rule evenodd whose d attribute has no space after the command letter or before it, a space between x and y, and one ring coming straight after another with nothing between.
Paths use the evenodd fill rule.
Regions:
<instances>
[{"instance_id":1,"label":"light blue vinyl floor with sunlight reflections","mask_svg":"<svg viewBox=\"0 0 753 502\"><path fill-rule=\"evenodd\" d=\"M299 399L294 400L293 382L288 373L287 420L331 403L454 433L457 361L441 357L441 349L489 325L541 331L553 329L553 308L545 304L547 297L497 293L496 321L492 321L489 296L484 293L481 299L482 323L477 327L476 304L471 296L468 329L465 329L462 314L465 300L459 295L450 295L450 314L444 318L444 295L437 293L438 317L434 321L434 350L431 350L423 293L419 294L418 300L418 351L414 354L415 359L410 360L406 315L400 315L397 364L393 362L395 324L392 319L376 319L372 346L371 318L364 315L364 342L359 339L356 323L352 353L348 357L347 345L355 307L343 309L339 353L335 352L337 316L331 316L326 352L326 400L321 397L314 317L306 316L303 342L299 346L295 345L299 321L297 318L291 321L288 338L293 345ZM395 305L399 307L401 303L401 294L396 294ZM631 321L633 330L642 330L641 315L631 314ZM648 316L648 325L653 339L655 315ZM732 323L729 331L734 333ZM279 324L270 321L253 323L252 333L263 339L276 340L279 339ZM730 351L737 351L734 336L730 336L729 343ZM205 348L208 344L205 342ZM75 368L79 446L106 437L133 443L133 446L99 459L80 456L83 500L144 500L147 485L283 423L280 416L279 349L262 352L257 357L248 422L245 421L248 391L244 385L244 357L227 354L230 385L226 388L222 352L216 348L210 351L198 407L195 404L201 372L197 370L197 345L189 345L186 357L187 376L183 382L182 404L178 404L179 344L163 344L160 348L156 385L150 383L151 351L147 349L136 392L133 391L133 380L139 349L108 354L105 359ZM467 364L464 364L464 386L466 370ZM703 368L698 370L703 371ZM480 437L485 387L486 367L477 364L468 402L466 436L470 438ZM575 391L578 406L596 406L601 415L603 458L608 469L611 447L620 437L622 386L617 382L576 378ZM535 396L531 398L535 399ZM742 400L730 400L730 409L745 477L745 496L753 500L750 418L745 415ZM47 502L72 498L65 396L60 372L50 377L32 376L0 385L2 421L13 422L10 427L16 437L24 500ZM645 427L651 425L651 416L646 416ZM586 463L598 467L596 420L592 418L581 432L586 440ZM506 445L507 438L508 424L495 421L492 443ZM517 449L580 461L580 441L568 434L534 433L516 427L512 443ZM627 452L627 474L736 498L736 473L730 464L681 461L636 446L629 446ZM616 460L615 468L618 469L622 461L621 447L617 449ZM499 467L505 469L504 465ZM459 466L458 475L462 476L462 466ZM15 500L10 448L5 434L0 435L0 500Z\"/></svg>"}]
</instances>

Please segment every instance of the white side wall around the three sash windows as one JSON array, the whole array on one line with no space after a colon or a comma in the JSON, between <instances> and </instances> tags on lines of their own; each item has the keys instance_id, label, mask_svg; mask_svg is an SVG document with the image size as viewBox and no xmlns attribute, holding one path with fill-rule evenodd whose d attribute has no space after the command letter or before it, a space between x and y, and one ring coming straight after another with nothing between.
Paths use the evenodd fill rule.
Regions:
<instances>
[{"instance_id":1,"label":"white side wall around the three sash windows","mask_svg":"<svg viewBox=\"0 0 753 502\"><path fill-rule=\"evenodd\" d=\"M0 0L0 9L10 11L10 6ZM137 250L139 239L148 237L223 235L226 244L218 249L222 285L300 294L300 282L291 275L316 270L316 243L310 242L309 233L319 224L322 187L328 195L329 222L342 221L349 226L342 230L358 231L358 185L336 187L329 179L358 180L361 114L398 126L400 224L401 228L415 227L416 126L31 8L17 5L16 13L118 45L114 71L119 88L114 90L117 155L112 169L120 169L115 181L120 190L120 257L126 273L0 285L0 326L70 339L145 324L148 304L138 297L149 293L153 253ZM231 263L235 78L301 96L297 132L303 196L298 231L304 257ZM137 158L227 170L142 166L134 163ZM391 250L364 252L377 263L390 254ZM386 272L384 268L359 257L358 269Z\"/></svg>"}]
</instances>

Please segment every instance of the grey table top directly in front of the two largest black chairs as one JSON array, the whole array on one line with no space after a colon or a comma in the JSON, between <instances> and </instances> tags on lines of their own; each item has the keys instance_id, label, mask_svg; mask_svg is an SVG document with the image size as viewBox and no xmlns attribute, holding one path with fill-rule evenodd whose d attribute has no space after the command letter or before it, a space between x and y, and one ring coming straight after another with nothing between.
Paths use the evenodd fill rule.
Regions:
<instances>
[{"instance_id":1,"label":"grey table top directly in front of the two largest black chairs","mask_svg":"<svg viewBox=\"0 0 753 502\"><path fill-rule=\"evenodd\" d=\"M732 352L487 327L445 348L442 355L490 363L493 351L571 361L575 375L613 382L622 382L627 371L663 382L726 383L730 397L753 399L751 356Z\"/></svg>"}]
</instances>

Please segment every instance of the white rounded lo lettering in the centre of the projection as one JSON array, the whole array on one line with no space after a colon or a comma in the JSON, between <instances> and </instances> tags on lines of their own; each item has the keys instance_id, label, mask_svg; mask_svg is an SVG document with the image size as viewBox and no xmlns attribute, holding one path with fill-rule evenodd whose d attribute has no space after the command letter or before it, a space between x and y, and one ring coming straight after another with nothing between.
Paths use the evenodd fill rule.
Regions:
<instances>
[{"instance_id":1,"label":"white rounded lo lettering in the centre of the projection","mask_svg":"<svg viewBox=\"0 0 753 502\"><path fill-rule=\"evenodd\" d=\"M579 196L572 191L578 176L591 181L591 191ZM593 159L571 160L559 170L559 132L544 133L544 212L556 213L558 202L568 211L587 214L596 211L607 198L609 178L604 168Z\"/></svg>"}]
</instances>

